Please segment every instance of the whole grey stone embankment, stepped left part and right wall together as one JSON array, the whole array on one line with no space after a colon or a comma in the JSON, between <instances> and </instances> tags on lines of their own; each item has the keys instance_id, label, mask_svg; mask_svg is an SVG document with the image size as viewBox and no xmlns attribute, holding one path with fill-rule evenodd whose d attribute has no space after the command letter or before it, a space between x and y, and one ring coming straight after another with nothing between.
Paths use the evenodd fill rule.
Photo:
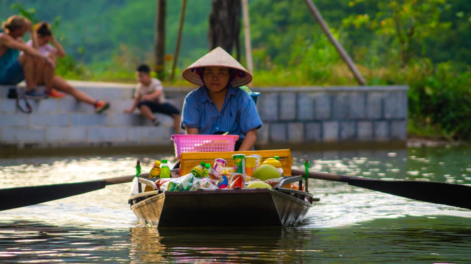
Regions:
<instances>
[{"instance_id":1,"label":"whole grey stone embankment, stepped left part and right wall together","mask_svg":"<svg viewBox=\"0 0 471 264\"><path fill-rule=\"evenodd\" d=\"M92 97L106 99L110 109L93 107L72 96L31 100L33 112L16 109L0 86L0 150L89 146L172 145L170 117L157 114L152 126L130 107L134 85L71 82ZM24 87L19 87L24 91ZM263 121L258 144L377 143L407 140L407 86L253 88L261 92L257 107ZM181 108L191 88L165 88Z\"/></svg>"}]
</instances>

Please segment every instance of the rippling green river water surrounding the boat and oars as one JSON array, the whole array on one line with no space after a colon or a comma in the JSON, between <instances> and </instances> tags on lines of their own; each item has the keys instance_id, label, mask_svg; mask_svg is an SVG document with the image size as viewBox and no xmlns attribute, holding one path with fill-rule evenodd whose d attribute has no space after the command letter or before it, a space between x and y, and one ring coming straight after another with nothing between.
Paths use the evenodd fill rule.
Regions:
<instances>
[{"instance_id":1,"label":"rippling green river water surrounding the boat and oars","mask_svg":"<svg viewBox=\"0 0 471 264\"><path fill-rule=\"evenodd\" d=\"M471 147L291 150L294 167L368 178L471 184ZM1 188L132 175L172 153L3 158ZM0 212L2 263L470 263L471 211L310 179L320 198L288 228L141 225L130 184ZM440 195L440 193L437 193ZM465 197L469 199L469 197ZM250 219L247 219L249 222Z\"/></svg>"}]
</instances>

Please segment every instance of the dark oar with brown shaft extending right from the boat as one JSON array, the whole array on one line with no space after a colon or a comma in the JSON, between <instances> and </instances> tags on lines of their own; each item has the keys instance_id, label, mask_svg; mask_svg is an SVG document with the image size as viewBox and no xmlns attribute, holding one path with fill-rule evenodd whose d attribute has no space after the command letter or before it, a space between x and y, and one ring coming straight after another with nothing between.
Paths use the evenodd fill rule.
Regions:
<instances>
[{"instance_id":1,"label":"dark oar with brown shaft extending right from the boat","mask_svg":"<svg viewBox=\"0 0 471 264\"><path fill-rule=\"evenodd\" d=\"M292 168L291 174L305 175L305 171ZM414 200L471 209L471 186L462 184L378 180L314 171L309 172L309 177L327 181L346 182L349 185L390 193Z\"/></svg>"}]
</instances>

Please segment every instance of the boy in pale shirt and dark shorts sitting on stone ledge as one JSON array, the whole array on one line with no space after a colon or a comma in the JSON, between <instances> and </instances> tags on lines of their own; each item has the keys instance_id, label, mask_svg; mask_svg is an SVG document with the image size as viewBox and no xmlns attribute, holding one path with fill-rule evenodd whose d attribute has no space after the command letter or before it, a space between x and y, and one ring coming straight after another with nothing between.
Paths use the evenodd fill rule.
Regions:
<instances>
[{"instance_id":1,"label":"boy in pale shirt and dark shorts sitting on stone ledge","mask_svg":"<svg viewBox=\"0 0 471 264\"><path fill-rule=\"evenodd\" d=\"M180 110L165 100L162 83L151 77L151 68L142 64L137 67L136 75L139 83L136 85L134 101L131 108L124 110L124 112L132 113L137 107L145 118L152 120L154 125L160 124L154 113L165 114L173 118L175 133L180 133L182 131Z\"/></svg>"}]
</instances>

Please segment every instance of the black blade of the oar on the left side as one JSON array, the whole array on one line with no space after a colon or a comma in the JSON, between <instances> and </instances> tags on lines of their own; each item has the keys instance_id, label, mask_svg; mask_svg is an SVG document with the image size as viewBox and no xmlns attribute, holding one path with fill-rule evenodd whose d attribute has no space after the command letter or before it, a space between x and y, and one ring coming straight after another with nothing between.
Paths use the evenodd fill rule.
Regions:
<instances>
[{"instance_id":1,"label":"black blade of the oar on the left side","mask_svg":"<svg viewBox=\"0 0 471 264\"><path fill-rule=\"evenodd\" d=\"M68 184L28 186L0 190L0 211L57 200L103 189L106 182L89 181Z\"/></svg>"}]
</instances>

